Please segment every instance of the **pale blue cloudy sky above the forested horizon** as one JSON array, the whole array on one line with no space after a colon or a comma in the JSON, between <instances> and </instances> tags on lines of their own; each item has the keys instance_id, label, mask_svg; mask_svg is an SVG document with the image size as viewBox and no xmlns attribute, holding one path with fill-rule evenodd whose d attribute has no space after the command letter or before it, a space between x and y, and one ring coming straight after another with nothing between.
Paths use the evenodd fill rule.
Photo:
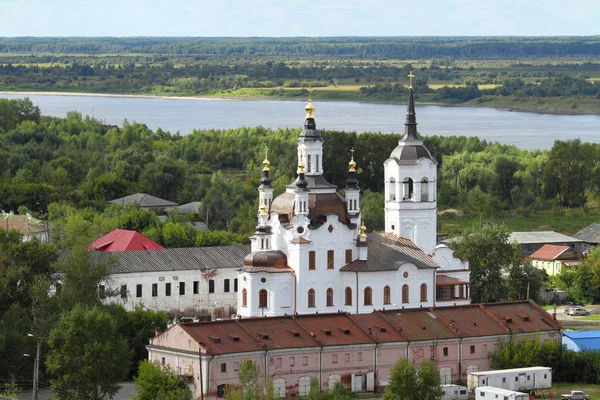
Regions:
<instances>
[{"instance_id":1,"label":"pale blue cloudy sky above the forested horizon","mask_svg":"<svg viewBox=\"0 0 600 400\"><path fill-rule=\"evenodd\" d=\"M600 0L0 0L12 36L600 34Z\"/></svg>"}]
</instances>

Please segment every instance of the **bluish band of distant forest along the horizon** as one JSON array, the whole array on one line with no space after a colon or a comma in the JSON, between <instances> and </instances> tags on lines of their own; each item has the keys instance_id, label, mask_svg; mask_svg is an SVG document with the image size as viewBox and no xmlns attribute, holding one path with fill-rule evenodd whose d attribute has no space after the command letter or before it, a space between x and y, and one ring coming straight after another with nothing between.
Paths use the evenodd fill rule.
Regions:
<instances>
[{"instance_id":1,"label":"bluish band of distant forest along the horizon","mask_svg":"<svg viewBox=\"0 0 600 400\"><path fill-rule=\"evenodd\" d=\"M0 38L0 53L526 58L600 55L589 37Z\"/></svg>"}]
</instances>

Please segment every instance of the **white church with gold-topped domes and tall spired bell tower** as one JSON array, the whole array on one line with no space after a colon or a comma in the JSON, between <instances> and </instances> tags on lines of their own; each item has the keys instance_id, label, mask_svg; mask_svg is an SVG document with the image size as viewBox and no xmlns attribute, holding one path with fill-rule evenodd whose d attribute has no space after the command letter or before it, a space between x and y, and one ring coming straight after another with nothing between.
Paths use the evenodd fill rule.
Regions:
<instances>
[{"instance_id":1,"label":"white church with gold-topped domes and tall spired bell tower","mask_svg":"<svg viewBox=\"0 0 600 400\"><path fill-rule=\"evenodd\" d=\"M366 233L354 154L345 197L323 177L309 100L298 177L273 198L265 156L252 252L238 273L238 315L282 316L470 303L468 262L436 245L437 160L417 135L411 84L404 135L385 167L385 233Z\"/></svg>"}]
</instances>

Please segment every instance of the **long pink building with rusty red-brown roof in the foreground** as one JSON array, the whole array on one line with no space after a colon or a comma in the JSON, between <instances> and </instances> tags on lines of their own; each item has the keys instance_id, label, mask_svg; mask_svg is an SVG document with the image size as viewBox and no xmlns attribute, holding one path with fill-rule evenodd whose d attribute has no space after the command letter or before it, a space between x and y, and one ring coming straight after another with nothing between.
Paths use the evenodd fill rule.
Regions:
<instances>
[{"instance_id":1,"label":"long pink building with rusty red-brown roof in the foreground","mask_svg":"<svg viewBox=\"0 0 600 400\"><path fill-rule=\"evenodd\" d=\"M196 398L221 397L249 359L281 398L323 391L337 381L355 392L381 391L401 358L435 361L443 383L490 368L504 340L560 340L560 324L532 301L313 314L174 325L148 346L149 359L184 377Z\"/></svg>"}]
</instances>

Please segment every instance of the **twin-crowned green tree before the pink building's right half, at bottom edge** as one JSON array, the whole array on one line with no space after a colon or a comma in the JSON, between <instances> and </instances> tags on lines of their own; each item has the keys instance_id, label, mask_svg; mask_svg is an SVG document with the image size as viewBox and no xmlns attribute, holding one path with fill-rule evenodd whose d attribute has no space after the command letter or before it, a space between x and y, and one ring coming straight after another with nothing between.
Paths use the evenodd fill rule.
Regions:
<instances>
[{"instance_id":1,"label":"twin-crowned green tree before the pink building's right half, at bottom edge","mask_svg":"<svg viewBox=\"0 0 600 400\"><path fill-rule=\"evenodd\" d=\"M442 397L440 374L435 363L424 360L419 369L407 359L400 359L390 371L384 400L436 400Z\"/></svg>"}]
</instances>

